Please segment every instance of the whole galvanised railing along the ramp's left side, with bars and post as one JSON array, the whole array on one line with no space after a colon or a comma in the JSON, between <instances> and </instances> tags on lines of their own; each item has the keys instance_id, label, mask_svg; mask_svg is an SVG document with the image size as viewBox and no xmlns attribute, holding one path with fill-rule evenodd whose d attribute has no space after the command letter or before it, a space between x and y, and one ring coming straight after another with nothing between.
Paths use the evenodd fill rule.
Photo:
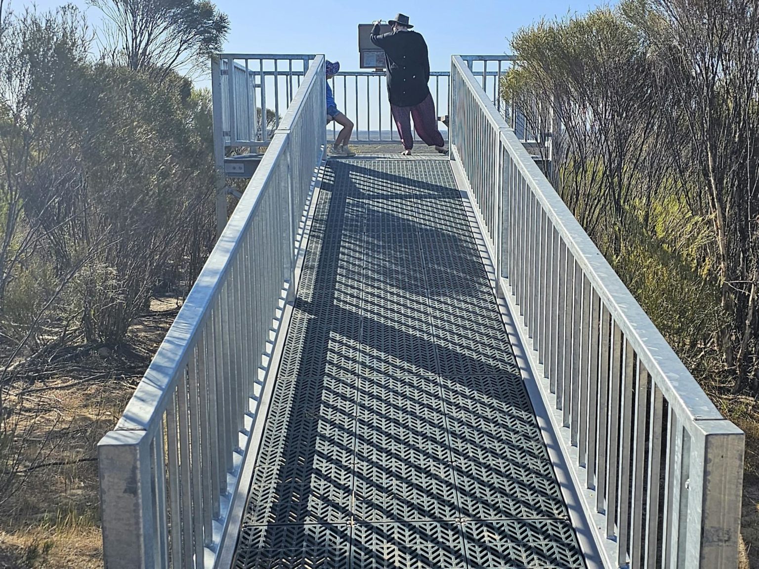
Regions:
<instances>
[{"instance_id":1,"label":"whole galvanised railing along the ramp's left side, with bars and post","mask_svg":"<svg viewBox=\"0 0 759 569\"><path fill-rule=\"evenodd\" d=\"M236 535L229 513L326 144L325 83L317 56L123 416L99 442L107 569L215 567L228 530Z\"/></svg>"}]
</instances>

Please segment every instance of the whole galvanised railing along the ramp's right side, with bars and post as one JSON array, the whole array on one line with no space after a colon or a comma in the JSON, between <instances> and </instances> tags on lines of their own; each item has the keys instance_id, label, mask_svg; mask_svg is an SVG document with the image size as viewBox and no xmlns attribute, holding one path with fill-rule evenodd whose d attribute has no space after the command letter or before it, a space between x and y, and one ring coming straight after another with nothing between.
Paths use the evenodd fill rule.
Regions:
<instances>
[{"instance_id":1,"label":"whole galvanised railing along the ramp's right side, with bars and post","mask_svg":"<svg viewBox=\"0 0 759 569\"><path fill-rule=\"evenodd\" d=\"M743 432L725 420L461 57L452 153L606 567L734 569Z\"/></svg>"}]
</instances>

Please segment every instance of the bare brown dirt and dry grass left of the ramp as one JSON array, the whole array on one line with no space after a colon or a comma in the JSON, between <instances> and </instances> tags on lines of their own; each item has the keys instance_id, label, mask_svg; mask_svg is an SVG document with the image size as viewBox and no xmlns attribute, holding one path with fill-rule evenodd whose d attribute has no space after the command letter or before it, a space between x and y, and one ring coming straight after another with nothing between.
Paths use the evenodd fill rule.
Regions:
<instances>
[{"instance_id":1,"label":"bare brown dirt and dry grass left of the ramp","mask_svg":"<svg viewBox=\"0 0 759 569\"><path fill-rule=\"evenodd\" d=\"M176 299L153 300L120 351L93 350L71 364L71 375L19 386L27 389L24 420L33 427L27 457L36 458L36 468L0 512L0 569L102 567L96 445L177 312Z\"/></svg>"}]
</instances>

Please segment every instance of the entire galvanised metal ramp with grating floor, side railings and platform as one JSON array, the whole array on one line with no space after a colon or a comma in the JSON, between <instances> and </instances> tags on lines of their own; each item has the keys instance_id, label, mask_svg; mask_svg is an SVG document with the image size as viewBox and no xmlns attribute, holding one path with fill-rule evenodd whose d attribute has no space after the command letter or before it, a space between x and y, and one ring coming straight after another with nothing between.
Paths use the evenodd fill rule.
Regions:
<instances>
[{"instance_id":1,"label":"entire galvanised metal ramp with grating floor, side railings and platform","mask_svg":"<svg viewBox=\"0 0 759 569\"><path fill-rule=\"evenodd\" d=\"M106 569L734 569L743 432L528 153L561 125L518 137L512 58L435 76L450 156L326 161L325 61L213 58L222 231L99 442Z\"/></svg>"}]
</instances>

